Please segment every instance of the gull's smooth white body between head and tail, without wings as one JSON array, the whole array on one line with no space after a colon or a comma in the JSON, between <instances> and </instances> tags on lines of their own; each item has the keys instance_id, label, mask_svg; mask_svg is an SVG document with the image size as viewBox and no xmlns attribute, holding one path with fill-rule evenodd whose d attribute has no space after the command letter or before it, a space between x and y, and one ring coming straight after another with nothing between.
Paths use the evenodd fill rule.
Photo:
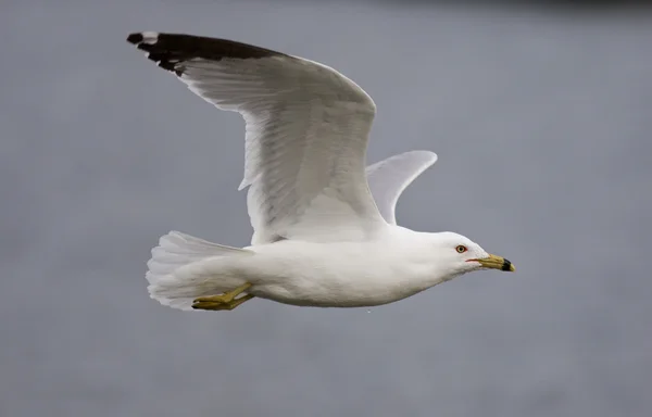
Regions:
<instances>
[{"instance_id":1,"label":"gull's smooth white body between head and tail, without wings","mask_svg":"<svg viewBox=\"0 0 652 417\"><path fill-rule=\"evenodd\" d=\"M451 276L438 274L430 233L390 226L376 239L352 242L283 240L239 255L206 257L178 269L178 281L206 280L206 294L251 283L248 293L286 304L360 307L391 303ZM351 279L354 277L355 279Z\"/></svg>"}]
</instances>

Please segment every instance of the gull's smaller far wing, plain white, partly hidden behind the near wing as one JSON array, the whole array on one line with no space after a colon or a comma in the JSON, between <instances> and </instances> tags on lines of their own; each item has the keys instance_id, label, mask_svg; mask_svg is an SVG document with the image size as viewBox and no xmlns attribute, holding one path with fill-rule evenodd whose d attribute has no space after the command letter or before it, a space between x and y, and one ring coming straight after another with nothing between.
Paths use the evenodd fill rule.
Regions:
<instances>
[{"instance_id":1,"label":"gull's smaller far wing, plain white, partly hidden behind the near wing","mask_svg":"<svg viewBox=\"0 0 652 417\"><path fill-rule=\"evenodd\" d=\"M437 162L430 151L411 151L393 155L367 166L366 176L383 217L390 225L397 224L396 207L401 193L416 177Z\"/></svg>"}]
</instances>

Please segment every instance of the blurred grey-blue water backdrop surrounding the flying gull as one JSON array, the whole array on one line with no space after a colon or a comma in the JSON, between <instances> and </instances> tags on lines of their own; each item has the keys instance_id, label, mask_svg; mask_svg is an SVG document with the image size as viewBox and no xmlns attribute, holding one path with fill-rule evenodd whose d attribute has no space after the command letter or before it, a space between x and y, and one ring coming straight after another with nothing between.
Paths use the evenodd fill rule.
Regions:
<instances>
[{"instance_id":1,"label":"blurred grey-blue water backdrop surrounding the flying gull","mask_svg":"<svg viewBox=\"0 0 652 417\"><path fill-rule=\"evenodd\" d=\"M601 4L3 1L0 416L652 415L652 18ZM251 227L243 122L140 30L351 77L378 106L369 163L439 154L399 223L517 273L371 309L150 300L161 235Z\"/></svg>"}]
</instances>

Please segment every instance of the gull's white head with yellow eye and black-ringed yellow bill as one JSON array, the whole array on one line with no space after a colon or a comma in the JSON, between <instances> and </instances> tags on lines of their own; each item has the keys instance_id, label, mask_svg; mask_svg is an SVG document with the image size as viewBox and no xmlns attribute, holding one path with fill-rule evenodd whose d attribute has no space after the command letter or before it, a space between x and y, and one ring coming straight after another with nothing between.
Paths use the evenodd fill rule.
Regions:
<instances>
[{"instance_id":1,"label":"gull's white head with yellow eye and black-ringed yellow bill","mask_svg":"<svg viewBox=\"0 0 652 417\"><path fill-rule=\"evenodd\" d=\"M510 261L488 253L462 235L446 231L432 233L431 237L438 266L448 279L477 269L516 270Z\"/></svg>"}]
</instances>

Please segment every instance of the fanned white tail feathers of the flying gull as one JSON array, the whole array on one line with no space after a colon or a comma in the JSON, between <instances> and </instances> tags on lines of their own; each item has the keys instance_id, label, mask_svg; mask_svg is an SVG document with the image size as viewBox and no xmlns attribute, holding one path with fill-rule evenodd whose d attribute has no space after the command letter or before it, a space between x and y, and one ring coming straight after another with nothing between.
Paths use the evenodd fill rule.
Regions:
<instances>
[{"instance_id":1,"label":"fanned white tail feathers of the flying gull","mask_svg":"<svg viewBox=\"0 0 652 417\"><path fill-rule=\"evenodd\" d=\"M233 290L244 283L220 274L221 261L252 255L246 249L224 247L178 231L162 236L147 266L150 296L163 305L192 309L192 300Z\"/></svg>"}]
</instances>

